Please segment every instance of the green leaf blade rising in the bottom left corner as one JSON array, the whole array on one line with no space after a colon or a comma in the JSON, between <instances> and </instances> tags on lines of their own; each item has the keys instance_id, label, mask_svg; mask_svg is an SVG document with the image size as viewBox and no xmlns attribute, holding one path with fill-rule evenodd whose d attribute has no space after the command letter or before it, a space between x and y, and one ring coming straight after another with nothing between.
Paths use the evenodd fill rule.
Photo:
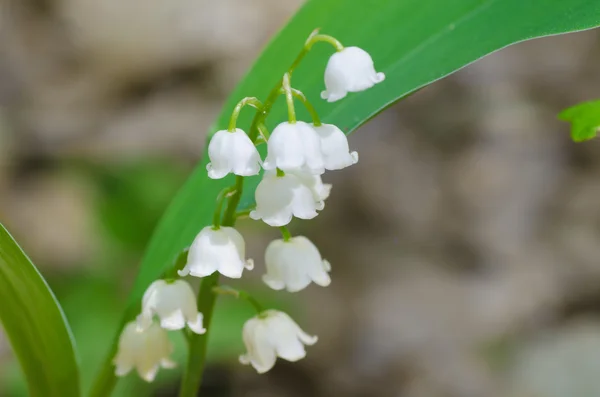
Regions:
<instances>
[{"instance_id":1,"label":"green leaf blade rising in the bottom left corner","mask_svg":"<svg viewBox=\"0 0 600 397\"><path fill-rule=\"evenodd\" d=\"M0 225L0 321L33 397L76 397L79 372L67 320L42 275Z\"/></svg>"}]
</instances>

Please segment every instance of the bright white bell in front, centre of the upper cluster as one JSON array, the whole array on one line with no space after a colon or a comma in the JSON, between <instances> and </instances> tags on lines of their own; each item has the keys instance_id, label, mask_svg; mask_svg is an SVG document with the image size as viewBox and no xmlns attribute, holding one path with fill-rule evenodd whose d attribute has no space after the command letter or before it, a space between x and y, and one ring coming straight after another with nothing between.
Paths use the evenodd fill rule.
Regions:
<instances>
[{"instance_id":1,"label":"bright white bell in front, centre of the upper cluster","mask_svg":"<svg viewBox=\"0 0 600 397\"><path fill-rule=\"evenodd\" d=\"M279 124L267 142L267 158L263 168L322 174L325 165L319 135L310 124L302 121Z\"/></svg>"}]
</instances>

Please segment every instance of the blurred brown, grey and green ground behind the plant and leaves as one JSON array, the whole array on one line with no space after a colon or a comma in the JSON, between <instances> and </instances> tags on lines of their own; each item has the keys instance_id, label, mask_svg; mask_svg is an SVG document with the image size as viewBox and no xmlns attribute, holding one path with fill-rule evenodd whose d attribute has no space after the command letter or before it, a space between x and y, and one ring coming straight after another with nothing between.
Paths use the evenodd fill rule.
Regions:
<instances>
[{"instance_id":1,"label":"blurred brown, grey and green ground behind the plant and leaves","mask_svg":"<svg viewBox=\"0 0 600 397\"><path fill-rule=\"evenodd\" d=\"M0 219L58 295L86 387L209 125L300 3L0 0ZM292 225L329 288L265 291L277 234L241 222L243 287L320 341L259 376L237 364L252 309L224 297L202 396L599 396L600 144L556 120L600 97L599 62L599 31L522 43L353 134L361 161ZM177 378L115 395L174 396ZM0 335L0 396L25 395Z\"/></svg>"}]
</instances>

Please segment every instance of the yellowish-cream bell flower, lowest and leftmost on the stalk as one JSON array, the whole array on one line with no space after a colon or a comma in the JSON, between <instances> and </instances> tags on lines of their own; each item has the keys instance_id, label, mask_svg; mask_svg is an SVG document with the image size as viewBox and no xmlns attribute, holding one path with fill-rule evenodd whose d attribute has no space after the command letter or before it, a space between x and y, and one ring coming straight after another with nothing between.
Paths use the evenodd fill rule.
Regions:
<instances>
[{"instance_id":1,"label":"yellowish-cream bell flower, lowest and leftmost on the stalk","mask_svg":"<svg viewBox=\"0 0 600 397\"><path fill-rule=\"evenodd\" d=\"M113 363L115 375L125 376L136 369L140 378L152 382L159 368L174 368L175 363L169 356L173 353L173 344L167 331L157 323L141 330L135 321L128 323L121 337L119 348Z\"/></svg>"}]
</instances>

